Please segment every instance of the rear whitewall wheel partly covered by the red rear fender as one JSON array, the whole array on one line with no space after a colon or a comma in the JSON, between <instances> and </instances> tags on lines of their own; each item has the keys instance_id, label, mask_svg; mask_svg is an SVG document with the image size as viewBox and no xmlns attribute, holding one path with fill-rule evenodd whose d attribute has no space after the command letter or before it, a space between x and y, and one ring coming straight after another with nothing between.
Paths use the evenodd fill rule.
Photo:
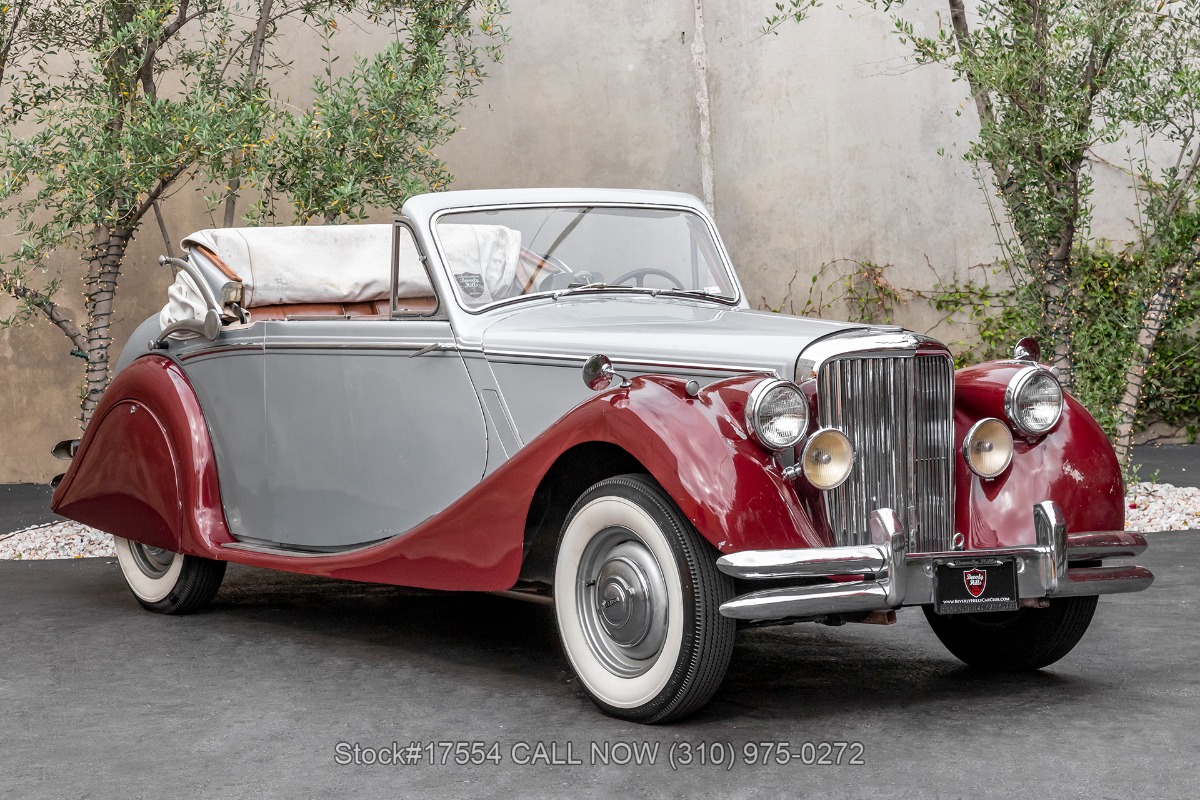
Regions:
<instances>
[{"instance_id":1,"label":"rear whitewall wheel partly covered by the red rear fender","mask_svg":"<svg viewBox=\"0 0 1200 800\"><path fill-rule=\"evenodd\" d=\"M134 599L160 614L187 614L216 597L226 563L181 555L114 536L116 560Z\"/></svg>"}]
</instances>

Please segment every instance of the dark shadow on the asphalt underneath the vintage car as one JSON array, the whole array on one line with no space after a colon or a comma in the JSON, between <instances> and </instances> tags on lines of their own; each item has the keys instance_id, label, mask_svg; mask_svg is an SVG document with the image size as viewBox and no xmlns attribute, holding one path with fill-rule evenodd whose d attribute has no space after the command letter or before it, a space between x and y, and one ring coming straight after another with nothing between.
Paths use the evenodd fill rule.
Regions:
<instances>
[{"instance_id":1,"label":"dark shadow on the asphalt underneath the vintage car","mask_svg":"<svg viewBox=\"0 0 1200 800\"><path fill-rule=\"evenodd\" d=\"M210 615L239 620L253 638L299 648L313 661L335 650L382 674L403 664L444 675L448 691L458 681L499 686L518 678L526 691L588 704L559 648L553 609L544 604L235 566L194 622ZM942 649L919 610L908 609L886 628L804 624L740 631L724 685L684 724L828 722L908 706L938 716L941 705L965 696L979 708L1052 710L1079 703L1102 682L1052 670L968 669Z\"/></svg>"}]
</instances>

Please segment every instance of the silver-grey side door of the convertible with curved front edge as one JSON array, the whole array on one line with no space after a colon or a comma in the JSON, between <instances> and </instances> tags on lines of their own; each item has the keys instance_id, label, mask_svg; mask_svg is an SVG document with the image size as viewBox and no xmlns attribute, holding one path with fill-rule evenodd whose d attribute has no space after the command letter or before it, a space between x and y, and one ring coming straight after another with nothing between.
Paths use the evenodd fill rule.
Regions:
<instances>
[{"instance_id":1,"label":"silver-grey side door of the convertible with curved front edge","mask_svg":"<svg viewBox=\"0 0 1200 800\"><path fill-rule=\"evenodd\" d=\"M265 360L266 541L388 539L482 477L482 410L448 321L269 321Z\"/></svg>"}]
</instances>

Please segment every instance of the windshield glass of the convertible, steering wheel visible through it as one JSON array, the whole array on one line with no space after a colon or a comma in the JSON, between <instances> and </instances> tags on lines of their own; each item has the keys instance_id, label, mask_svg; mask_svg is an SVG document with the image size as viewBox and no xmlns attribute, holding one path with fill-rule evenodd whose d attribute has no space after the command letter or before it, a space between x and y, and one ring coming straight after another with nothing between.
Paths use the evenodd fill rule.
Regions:
<instances>
[{"instance_id":1,"label":"windshield glass of the convertible, steering wheel visible through it","mask_svg":"<svg viewBox=\"0 0 1200 800\"><path fill-rule=\"evenodd\" d=\"M437 236L467 308L575 291L737 300L708 224L691 211L604 206L466 211L442 216Z\"/></svg>"}]
</instances>

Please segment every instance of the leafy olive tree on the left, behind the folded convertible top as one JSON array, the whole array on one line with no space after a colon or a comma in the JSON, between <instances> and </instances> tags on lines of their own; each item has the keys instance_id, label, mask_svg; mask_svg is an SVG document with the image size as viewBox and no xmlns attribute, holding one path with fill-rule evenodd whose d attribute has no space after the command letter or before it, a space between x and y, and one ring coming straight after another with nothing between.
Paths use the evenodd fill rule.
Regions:
<instances>
[{"instance_id":1,"label":"leafy olive tree on the left, behind the folded convertible top","mask_svg":"<svg viewBox=\"0 0 1200 800\"><path fill-rule=\"evenodd\" d=\"M185 184L223 224L326 222L451 180L455 132L506 41L505 0L0 0L0 289L8 326L44 318L86 360L86 425L110 379L130 242ZM380 31L347 64L343 28ZM311 100L272 91L319 43ZM314 38L313 38L314 37ZM170 242L167 241L169 249ZM85 263L86 320L55 297L55 251Z\"/></svg>"}]
</instances>

